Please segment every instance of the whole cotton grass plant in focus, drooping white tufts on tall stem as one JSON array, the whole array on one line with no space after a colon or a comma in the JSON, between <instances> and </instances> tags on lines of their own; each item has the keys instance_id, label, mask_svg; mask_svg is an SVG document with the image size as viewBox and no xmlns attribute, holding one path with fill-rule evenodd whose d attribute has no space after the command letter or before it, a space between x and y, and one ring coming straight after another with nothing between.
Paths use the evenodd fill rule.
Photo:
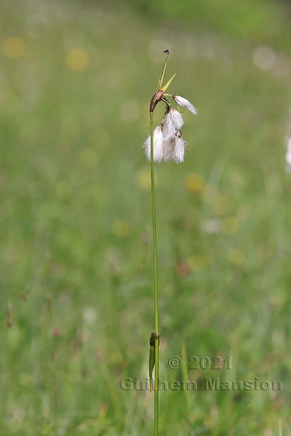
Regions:
<instances>
[{"instance_id":1,"label":"whole cotton grass plant in focus, drooping white tufts on tall stem","mask_svg":"<svg viewBox=\"0 0 291 436\"><path fill-rule=\"evenodd\" d=\"M156 211L154 200L154 162L160 163L162 160L168 162L174 160L177 164L184 162L185 146L187 143L184 141L181 133L181 128L184 124L183 115L180 113L180 106L188 109L193 115L197 114L195 107L185 98L180 95L165 94L171 81L176 73L170 80L163 86L164 73L166 70L169 51L165 50L166 60L164 68L159 79L157 92L153 95L150 104L150 119L151 119L151 133L144 140L143 148L147 160L151 162L151 204L153 215L153 238L154 238L154 324L155 331L151 334L150 338L150 359L149 359L149 373L150 373L150 386L152 384L152 373L154 371L154 436L158 435L158 378L159 378L159 338L160 333L158 329L158 301L157 301L157 235L156 235ZM177 105L177 109L173 108L167 97L171 97ZM163 102L165 104L164 117L161 123L154 129L153 112L157 103Z\"/></svg>"}]
</instances>

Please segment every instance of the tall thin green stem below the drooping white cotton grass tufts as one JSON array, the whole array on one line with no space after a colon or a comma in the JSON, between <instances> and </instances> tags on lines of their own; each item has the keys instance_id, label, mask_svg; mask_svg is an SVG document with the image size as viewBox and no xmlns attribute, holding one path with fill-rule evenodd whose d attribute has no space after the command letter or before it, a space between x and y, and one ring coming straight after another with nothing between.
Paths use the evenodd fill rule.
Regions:
<instances>
[{"instance_id":1,"label":"tall thin green stem below the drooping white cotton grass tufts","mask_svg":"<svg viewBox=\"0 0 291 436\"><path fill-rule=\"evenodd\" d=\"M153 139L153 112L151 117L151 207L153 212L153 238L154 238L154 324L156 340L154 341L154 436L158 436L158 378L159 378L159 333L158 333L158 314L157 314L157 235L156 235L156 208L154 203L154 139Z\"/></svg>"}]
</instances>

